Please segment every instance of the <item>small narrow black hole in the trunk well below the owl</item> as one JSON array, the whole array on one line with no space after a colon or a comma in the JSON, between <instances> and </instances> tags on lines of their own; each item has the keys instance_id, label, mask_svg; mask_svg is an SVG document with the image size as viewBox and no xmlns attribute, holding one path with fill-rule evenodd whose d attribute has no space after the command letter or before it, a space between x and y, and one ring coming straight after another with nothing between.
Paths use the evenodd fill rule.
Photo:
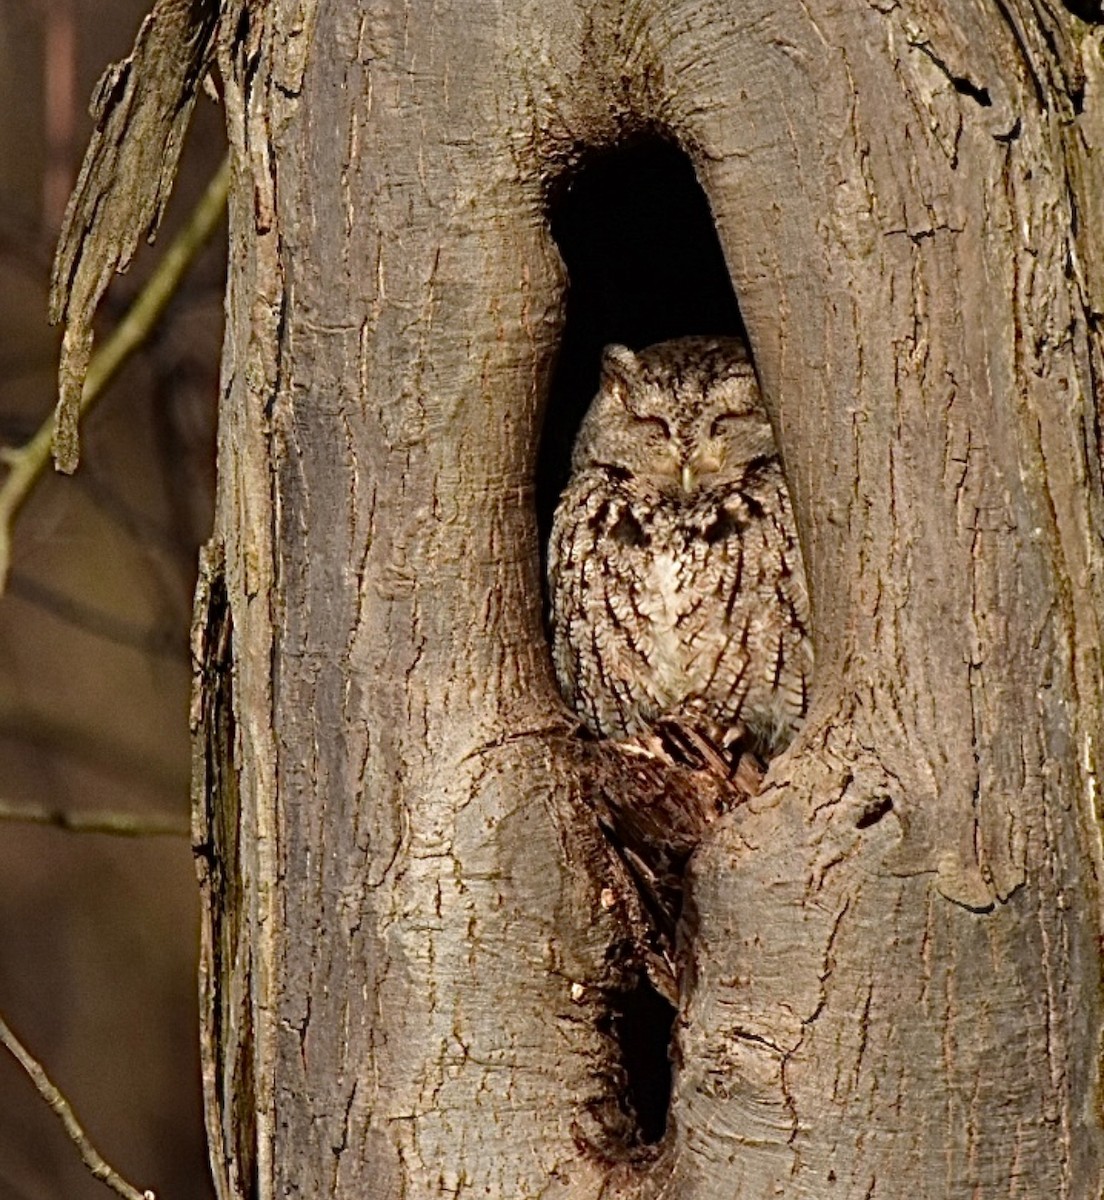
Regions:
<instances>
[{"instance_id":1,"label":"small narrow black hole in the trunk well below the owl","mask_svg":"<svg viewBox=\"0 0 1104 1200\"><path fill-rule=\"evenodd\" d=\"M641 1141L654 1145L667 1129L674 1008L642 973L631 990L613 997L611 1018L625 1070L625 1099Z\"/></svg>"}]
</instances>

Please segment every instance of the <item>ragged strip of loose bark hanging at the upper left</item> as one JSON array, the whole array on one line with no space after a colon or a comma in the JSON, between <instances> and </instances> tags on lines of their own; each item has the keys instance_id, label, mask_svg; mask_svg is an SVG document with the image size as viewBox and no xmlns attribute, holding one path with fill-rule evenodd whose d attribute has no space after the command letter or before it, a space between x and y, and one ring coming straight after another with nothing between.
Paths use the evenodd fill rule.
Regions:
<instances>
[{"instance_id":1,"label":"ragged strip of loose bark hanging at the upper left","mask_svg":"<svg viewBox=\"0 0 1104 1200\"><path fill-rule=\"evenodd\" d=\"M72 473L77 414L92 353L92 317L138 239L152 240L176 175L196 89L206 73L218 0L158 0L130 58L108 67L92 96L96 131L65 212L49 318L65 322L54 461Z\"/></svg>"}]
</instances>

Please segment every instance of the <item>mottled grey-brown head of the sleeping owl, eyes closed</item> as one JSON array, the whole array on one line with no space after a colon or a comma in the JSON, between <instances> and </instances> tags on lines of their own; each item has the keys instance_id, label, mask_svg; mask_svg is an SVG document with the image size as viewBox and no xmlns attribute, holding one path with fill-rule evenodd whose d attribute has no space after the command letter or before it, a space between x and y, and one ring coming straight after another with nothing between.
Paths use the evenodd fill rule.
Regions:
<instances>
[{"instance_id":1,"label":"mottled grey-brown head of the sleeping owl, eyes closed","mask_svg":"<svg viewBox=\"0 0 1104 1200\"><path fill-rule=\"evenodd\" d=\"M736 337L679 337L634 353L607 346L572 469L628 472L692 496L744 480L776 455L758 380Z\"/></svg>"}]
</instances>

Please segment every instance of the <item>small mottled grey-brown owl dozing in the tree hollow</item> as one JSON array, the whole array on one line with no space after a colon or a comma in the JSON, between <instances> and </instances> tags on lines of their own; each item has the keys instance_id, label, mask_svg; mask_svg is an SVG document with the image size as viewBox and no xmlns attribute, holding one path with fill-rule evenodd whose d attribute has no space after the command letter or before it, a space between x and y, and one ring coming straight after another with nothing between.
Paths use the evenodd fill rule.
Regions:
<instances>
[{"instance_id":1,"label":"small mottled grey-brown owl dozing in the tree hollow","mask_svg":"<svg viewBox=\"0 0 1104 1200\"><path fill-rule=\"evenodd\" d=\"M802 553L738 338L610 346L548 551L556 672L605 737L678 713L792 738L812 672Z\"/></svg>"}]
</instances>

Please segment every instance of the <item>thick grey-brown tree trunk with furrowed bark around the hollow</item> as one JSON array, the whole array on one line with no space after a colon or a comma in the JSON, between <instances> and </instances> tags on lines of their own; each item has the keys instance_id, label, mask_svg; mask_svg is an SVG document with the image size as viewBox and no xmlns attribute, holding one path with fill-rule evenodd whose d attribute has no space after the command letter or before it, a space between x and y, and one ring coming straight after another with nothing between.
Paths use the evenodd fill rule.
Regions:
<instances>
[{"instance_id":1,"label":"thick grey-brown tree trunk with furrowed bark around the hollow","mask_svg":"<svg viewBox=\"0 0 1104 1200\"><path fill-rule=\"evenodd\" d=\"M1098 31L1042 0L234 16L196 710L222 1200L1098 1196ZM817 654L690 864L655 1145L616 1036L646 917L534 498L548 214L646 137L708 197Z\"/></svg>"}]
</instances>

